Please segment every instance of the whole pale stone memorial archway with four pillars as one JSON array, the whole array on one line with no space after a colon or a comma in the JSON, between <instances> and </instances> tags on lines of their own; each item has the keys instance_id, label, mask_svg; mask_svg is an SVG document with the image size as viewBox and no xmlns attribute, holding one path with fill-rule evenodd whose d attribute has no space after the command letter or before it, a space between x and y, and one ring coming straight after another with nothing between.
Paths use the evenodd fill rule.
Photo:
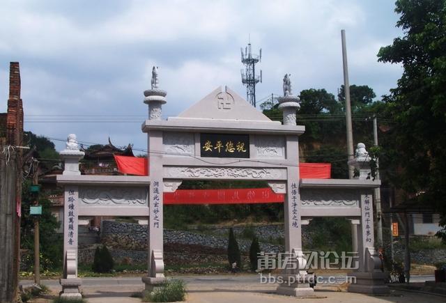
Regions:
<instances>
[{"instance_id":1,"label":"whole pale stone memorial archway with four pillars","mask_svg":"<svg viewBox=\"0 0 446 303\"><path fill-rule=\"evenodd\" d=\"M177 117L162 120L165 91L157 87L154 68L152 88L144 91L148 120L142 131L148 138L148 177L80 176L79 152L75 137L69 137L59 184L65 186L64 277L62 296L80 296L77 278L77 225L84 216L125 215L148 220L148 277L146 290L165 279L163 260L163 193L175 192L183 180L263 180L276 193L286 194L285 249L297 268L284 270L286 277L300 277L283 283L277 293L304 296L312 275L305 271L302 253L302 224L318 216L341 216L357 226L360 268L357 284L349 290L364 293L385 292L383 273L374 250L371 195L377 181L367 180L364 150L355 163L362 169L357 180L299 178L298 138L305 127L296 125L298 98L291 84L284 84L279 109L284 124L271 121L231 89L217 88ZM364 166L364 164L366 164ZM367 167L365 167L367 168ZM78 220L78 217L81 219Z\"/></svg>"}]
</instances>

